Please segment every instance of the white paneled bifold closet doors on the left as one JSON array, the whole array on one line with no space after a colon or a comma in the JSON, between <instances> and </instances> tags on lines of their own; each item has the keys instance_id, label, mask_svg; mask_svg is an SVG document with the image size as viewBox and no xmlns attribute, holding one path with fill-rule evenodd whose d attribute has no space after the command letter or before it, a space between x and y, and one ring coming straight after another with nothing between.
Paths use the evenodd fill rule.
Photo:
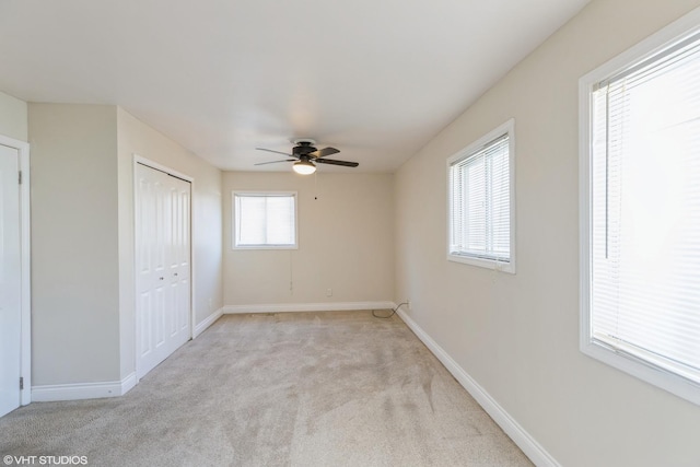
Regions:
<instances>
[{"instance_id":1,"label":"white paneled bifold closet doors on the left","mask_svg":"<svg viewBox=\"0 0 700 467\"><path fill-rule=\"evenodd\" d=\"M137 164L137 378L191 336L190 184Z\"/></svg>"}]
</instances>

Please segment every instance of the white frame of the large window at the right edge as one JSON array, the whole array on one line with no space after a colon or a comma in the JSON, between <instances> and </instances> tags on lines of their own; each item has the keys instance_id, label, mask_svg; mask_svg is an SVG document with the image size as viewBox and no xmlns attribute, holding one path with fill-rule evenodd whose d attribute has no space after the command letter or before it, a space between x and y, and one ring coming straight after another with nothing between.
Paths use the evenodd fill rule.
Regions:
<instances>
[{"instance_id":1,"label":"white frame of the large window at the right edge","mask_svg":"<svg viewBox=\"0 0 700 467\"><path fill-rule=\"evenodd\" d=\"M666 49L679 38L700 32L700 9L682 16L637 46L582 77L579 81L579 188L580 188L580 349L583 353L700 405L700 385L669 370L621 353L593 338L591 331L592 127L594 85Z\"/></svg>"}]
</instances>

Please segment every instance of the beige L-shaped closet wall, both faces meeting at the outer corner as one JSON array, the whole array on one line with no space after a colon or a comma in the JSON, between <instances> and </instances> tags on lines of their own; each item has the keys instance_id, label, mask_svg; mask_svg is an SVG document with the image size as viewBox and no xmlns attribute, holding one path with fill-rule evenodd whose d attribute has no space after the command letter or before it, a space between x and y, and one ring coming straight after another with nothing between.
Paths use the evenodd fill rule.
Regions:
<instances>
[{"instance_id":1,"label":"beige L-shaped closet wall, both faces meeting at the outer corner","mask_svg":"<svg viewBox=\"0 0 700 467\"><path fill-rule=\"evenodd\" d=\"M33 386L135 372L133 153L194 178L195 325L222 308L221 172L115 106L30 104Z\"/></svg>"}]
</instances>

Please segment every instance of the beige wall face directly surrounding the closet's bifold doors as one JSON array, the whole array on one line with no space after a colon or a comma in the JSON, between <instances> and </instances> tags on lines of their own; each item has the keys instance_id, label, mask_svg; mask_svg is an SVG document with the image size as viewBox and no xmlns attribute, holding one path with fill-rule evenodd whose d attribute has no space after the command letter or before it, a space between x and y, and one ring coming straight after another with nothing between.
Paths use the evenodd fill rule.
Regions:
<instances>
[{"instance_id":1,"label":"beige wall face directly surrounding the closet's bifold doors","mask_svg":"<svg viewBox=\"0 0 700 467\"><path fill-rule=\"evenodd\" d=\"M192 307L195 326L223 307L221 171L173 140L117 109L119 156L119 276L121 377L135 371L133 154L194 178Z\"/></svg>"}]
</instances>

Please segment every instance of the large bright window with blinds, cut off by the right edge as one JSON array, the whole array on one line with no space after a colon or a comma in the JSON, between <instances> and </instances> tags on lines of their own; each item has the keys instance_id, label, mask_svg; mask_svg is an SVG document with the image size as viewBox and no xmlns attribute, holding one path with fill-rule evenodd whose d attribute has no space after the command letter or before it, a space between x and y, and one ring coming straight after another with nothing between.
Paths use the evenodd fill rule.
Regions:
<instances>
[{"instance_id":1,"label":"large bright window with blinds, cut off by the right edge","mask_svg":"<svg viewBox=\"0 0 700 467\"><path fill-rule=\"evenodd\" d=\"M678 36L685 22L581 79L581 350L700 404L700 34Z\"/></svg>"}]
</instances>

